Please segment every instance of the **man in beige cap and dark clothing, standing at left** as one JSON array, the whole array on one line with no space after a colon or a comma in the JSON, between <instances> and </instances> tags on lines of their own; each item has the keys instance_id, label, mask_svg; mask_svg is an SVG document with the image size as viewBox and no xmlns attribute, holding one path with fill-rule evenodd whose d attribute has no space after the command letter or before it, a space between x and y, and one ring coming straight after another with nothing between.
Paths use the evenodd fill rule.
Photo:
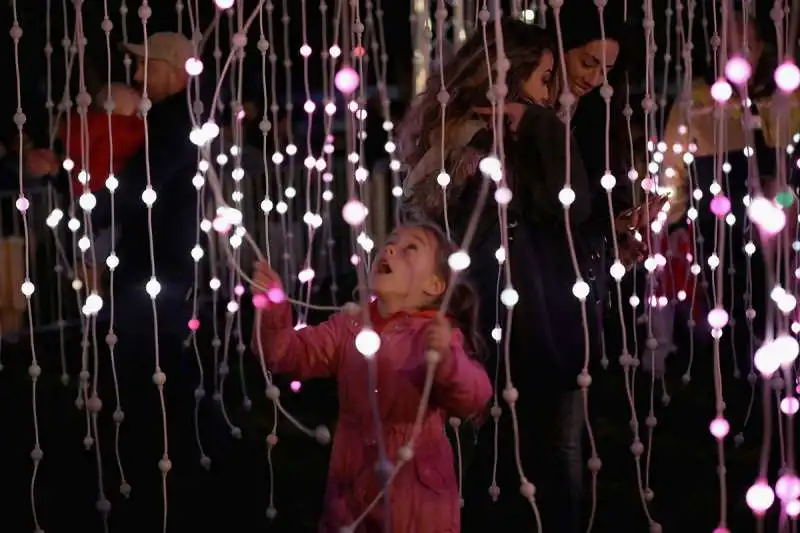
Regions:
<instances>
[{"instance_id":1,"label":"man in beige cap and dark clothing, standing at left","mask_svg":"<svg viewBox=\"0 0 800 533\"><path fill-rule=\"evenodd\" d=\"M146 48L129 45L128 52L137 60L134 79L140 86L147 69L146 95L152 101L146 116L149 146L143 145L124 165L113 197L107 188L94 193L97 204L91 212L93 231L108 229L113 201L119 230L112 333L125 413L120 453L132 492L128 501L111 493L109 498L115 508L112 517L124 524L123 531L161 530L164 501L169 501L170 530L203 529L207 515L196 512L198 505L203 506L197 498L206 496L198 496L201 467L192 417L197 372L193 358L183 353L192 313L190 252L198 224L197 192L191 179L197 171L197 147L189 140L189 77L184 69L194 56L194 46L183 35L156 33ZM157 197L148 212L142 193L149 189ZM151 299L146 286L153 280L160 284L160 292ZM163 430L162 400L153 382L157 371L167 376ZM113 405L111 391L104 395L101 390L101 396ZM112 424L109 428L113 431ZM172 462L167 500L159 489L159 461L167 458L164 431ZM100 442L113 446L113 433ZM109 460L113 450L110 453Z\"/></svg>"}]
</instances>

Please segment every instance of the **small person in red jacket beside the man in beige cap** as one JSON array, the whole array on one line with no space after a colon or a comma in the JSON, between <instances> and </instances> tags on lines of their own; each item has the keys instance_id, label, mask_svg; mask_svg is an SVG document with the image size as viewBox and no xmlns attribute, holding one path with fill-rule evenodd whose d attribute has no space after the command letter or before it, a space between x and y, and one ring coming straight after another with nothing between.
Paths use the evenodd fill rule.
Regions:
<instances>
[{"instance_id":1,"label":"small person in red jacket beside the man in beige cap","mask_svg":"<svg viewBox=\"0 0 800 533\"><path fill-rule=\"evenodd\" d=\"M109 114L110 103L113 107ZM66 155L74 162L70 185L75 197L97 193L113 184L109 178L124 168L144 142L145 126L139 116L141 96L136 89L122 83L106 85L94 104L86 111L85 120L73 111L61 131ZM85 268L105 262L111 253L112 234L106 230L94 235L93 253L87 250L84 254ZM92 272L87 273L86 280L92 283Z\"/></svg>"}]
</instances>

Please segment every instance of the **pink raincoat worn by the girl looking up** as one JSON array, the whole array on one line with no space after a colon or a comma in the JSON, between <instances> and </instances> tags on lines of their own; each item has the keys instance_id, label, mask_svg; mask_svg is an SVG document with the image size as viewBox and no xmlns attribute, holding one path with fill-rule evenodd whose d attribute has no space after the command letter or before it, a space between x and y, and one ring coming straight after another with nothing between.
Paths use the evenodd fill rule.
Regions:
<instances>
[{"instance_id":1,"label":"pink raincoat worn by the girl looking up","mask_svg":"<svg viewBox=\"0 0 800 533\"><path fill-rule=\"evenodd\" d=\"M367 361L355 347L361 316L333 315L316 327L295 331L288 304L264 310L261 316L263 357L275 373L298 379L333 377L339 385L339 421L333 440L321 533L339 533L379 495L378 443L370 411L377 394L383 441L389 460L411 437L427 363L425 327L432 314L400 313L373 319L381 337L375 354L377 386L368 390ZM258 325L257 325L258 327ZM379 503L356 530L383 531L384 513L391 513L393 533L457 533L460 529L458 483L453 452L445 435L447 416L479 414L492 386L483 368L464 352L463 337L453 331L449 354L437 366L428 411L414 445L414 456L392 482L391 505Z\"/></svg>"}]
</instances>

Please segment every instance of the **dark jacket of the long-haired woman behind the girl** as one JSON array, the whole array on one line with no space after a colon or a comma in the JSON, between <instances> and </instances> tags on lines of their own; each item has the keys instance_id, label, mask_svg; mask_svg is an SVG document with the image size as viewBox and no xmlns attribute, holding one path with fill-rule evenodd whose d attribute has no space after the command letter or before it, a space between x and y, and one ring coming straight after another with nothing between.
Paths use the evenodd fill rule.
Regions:
<instances>
[{"instance_id":1,"label":"dark jacket of the long-haired woman behind the girl","mask_svg":"<svg viewBox=\"0 0 800 533\"><path fill-rule=\"evenodd\" d=\"M508 209L511 285L519 294L519 302L513 309L509 351L514 385L523 389L526 383L536 386L546 382L550 386L558 383L563 388L576 387L585 357L583 320L581 304L572 294L576 274L564 224L565 210L558 199L565 184L566 126L552 110L531 105L516 131L507 131L504 138L506 178L514 195ZM468 148L488 155L492 142L493 134L486 128L474 135ZM604 236L610 230L610 217L599 177L598 183L590 183L574 143L570 161L571 187L575 192L575 201L569 209L570 227L581 278L592 287L586 309L593 349L597 331L595 304L605 294L608 265ZM435 182L435 176L429 179ZM460 242L476 208L483 179L478 171L448 197L448 219L456 242ZM495 324L506 319L504 312L498 318L497 311L505 309L498 301L498 294L506 281L498 278L495 259L501 240L497 205L491 199L493 189L494 186L469 244L472 258L469 276L480 296L489 370L494 370L495 357L503 353L502 345L497 349L489 333ZM602 191L602 202L598 201L598 190ZM423 191L436 194L435 189L428 187L410 191L411 207L425 205L426 198L419 198ZM605 212L596 212L596 205L605 206ZM442 222L441 211L428 215ZM501 370L500 387L503 376Z\"/></svg>"}]
</instances>

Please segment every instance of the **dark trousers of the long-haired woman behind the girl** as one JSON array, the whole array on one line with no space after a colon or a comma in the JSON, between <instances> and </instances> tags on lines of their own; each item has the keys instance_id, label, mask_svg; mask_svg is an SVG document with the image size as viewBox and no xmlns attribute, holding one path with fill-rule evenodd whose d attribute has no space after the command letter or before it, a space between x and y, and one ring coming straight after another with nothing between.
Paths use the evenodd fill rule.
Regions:
<instances>
[{"instance_id":1,"label":"dark trousers of the long-haired woman behind the girl","mask_svg":"<svg viewBox=\"0 0 800 533\"><path fill-rule=\"evenodd\" d=\"M535 501L545 531L582 531L582 488L585 461L582 454L583 398L580 391L544 391L520 394L519 451L522 469L536 486ZM497 450L495 425L487 421L480 430L476 457L464 481L462 531L537 531L530 503L520 494L520 473L515 459L511 413L503 404ZM489 495L497 461L500 496Z\"/></svg>"}]
</instances>

